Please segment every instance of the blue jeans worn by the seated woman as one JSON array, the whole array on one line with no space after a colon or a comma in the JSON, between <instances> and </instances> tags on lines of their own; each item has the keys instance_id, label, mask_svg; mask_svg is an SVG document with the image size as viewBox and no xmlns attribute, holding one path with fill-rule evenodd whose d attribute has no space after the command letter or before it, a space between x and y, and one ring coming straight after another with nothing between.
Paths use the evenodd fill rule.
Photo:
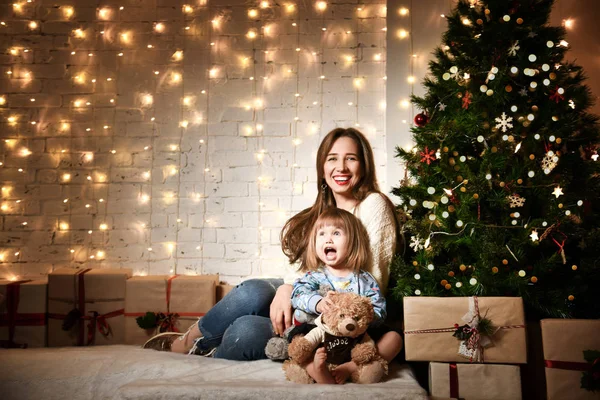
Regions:
<instances>
[{"instance_id":1,"label":"blue jeans worn by the seated woman","mask_svg":"<svg viewBox=\"0 0 600 400\"><path fill-rule=\"evenodd\" d=\"M237 285L200 321L202 350L217 347L215 358L260 360L273 337L269 318L275 292L283 279L250 279Z\"/></svg>"}]
</instances>

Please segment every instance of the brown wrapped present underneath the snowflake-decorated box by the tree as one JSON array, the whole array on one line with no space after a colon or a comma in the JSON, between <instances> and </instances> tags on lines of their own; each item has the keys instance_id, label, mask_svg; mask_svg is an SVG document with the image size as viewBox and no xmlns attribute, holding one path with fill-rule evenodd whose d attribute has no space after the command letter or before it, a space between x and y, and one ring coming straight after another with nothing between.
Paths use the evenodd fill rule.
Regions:
<instances>
[{"instance_id":1,"label":"brown wrapped present underneath the snowflake-decorated box by the tree","mask_svg":"<svg viewBox=\"0 0 600 400\"><path fill-rule=\"evenodd\" d=\"M516 365L429 363L429 394L465 400L520 400Z\"/></svg>"}]
</instances>

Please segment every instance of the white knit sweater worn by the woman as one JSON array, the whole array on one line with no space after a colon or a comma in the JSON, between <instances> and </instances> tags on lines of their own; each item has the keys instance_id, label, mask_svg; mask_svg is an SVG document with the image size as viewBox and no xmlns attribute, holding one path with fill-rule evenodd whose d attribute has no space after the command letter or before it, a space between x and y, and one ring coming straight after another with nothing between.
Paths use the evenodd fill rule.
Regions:
<instances>
[{"instance_id":1,"label":"white knit sweater worn by the woman","mask_svg":"<svg viewBox=\"0 0 600 400\"><path fill-rule=\"evenodd\" d=\"M385 295L390 275L390 263L396 248L396 230L394 224L394 210L388 207L383 194L371 193L354 209L350 210L364 225L369 234L371 251L373 252L373 265L363 266L377 280L381 292ZM292 268L298 265L292 265ZM300 272L287 274L284 282L293 284L301 277Z\"/></svg>"}]
</instances>

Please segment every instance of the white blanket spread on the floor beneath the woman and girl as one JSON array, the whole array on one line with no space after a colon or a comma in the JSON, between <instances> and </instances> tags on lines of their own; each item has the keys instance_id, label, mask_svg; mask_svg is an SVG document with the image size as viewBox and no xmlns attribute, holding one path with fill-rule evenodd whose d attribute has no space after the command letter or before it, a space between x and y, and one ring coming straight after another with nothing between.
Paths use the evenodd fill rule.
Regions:
<instances>
[{"instance_id":1,"label":"white blanket spread on the floor beneath the woman and girl","mask_svg":"<svg viewBox=\"0 0 600 400\"><path fill-rule=\"evenodd\" d=\"M134 346L0 350L8 399L427 399L406 365L374 385L298 385L281 363L229 361Z\"/></svg>"}]
</instances>

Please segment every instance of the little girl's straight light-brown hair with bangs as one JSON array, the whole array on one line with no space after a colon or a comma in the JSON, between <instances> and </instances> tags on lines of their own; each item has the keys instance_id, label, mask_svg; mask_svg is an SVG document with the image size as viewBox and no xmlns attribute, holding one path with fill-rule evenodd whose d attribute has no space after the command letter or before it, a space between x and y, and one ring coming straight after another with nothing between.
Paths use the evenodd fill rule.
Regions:
<instances>
[{"instance_id":1,"label":"little girl's straight light-brown hair with bangs","mask_svg":"<svg viewBox=\"0 0 600 400\"><path fill-rule=\"evenodd\" d=\"M372 260L367 230L358 218L337 207L326 208L314 223L306 249L305 268L316 271L323 265L317 256L316 238L319 229L328 225L341 228L346 233L348 251L346 259L343 260L345 267L354 272L358 272L361 268L369 269Z\"/></svg>"}]
</instances>

